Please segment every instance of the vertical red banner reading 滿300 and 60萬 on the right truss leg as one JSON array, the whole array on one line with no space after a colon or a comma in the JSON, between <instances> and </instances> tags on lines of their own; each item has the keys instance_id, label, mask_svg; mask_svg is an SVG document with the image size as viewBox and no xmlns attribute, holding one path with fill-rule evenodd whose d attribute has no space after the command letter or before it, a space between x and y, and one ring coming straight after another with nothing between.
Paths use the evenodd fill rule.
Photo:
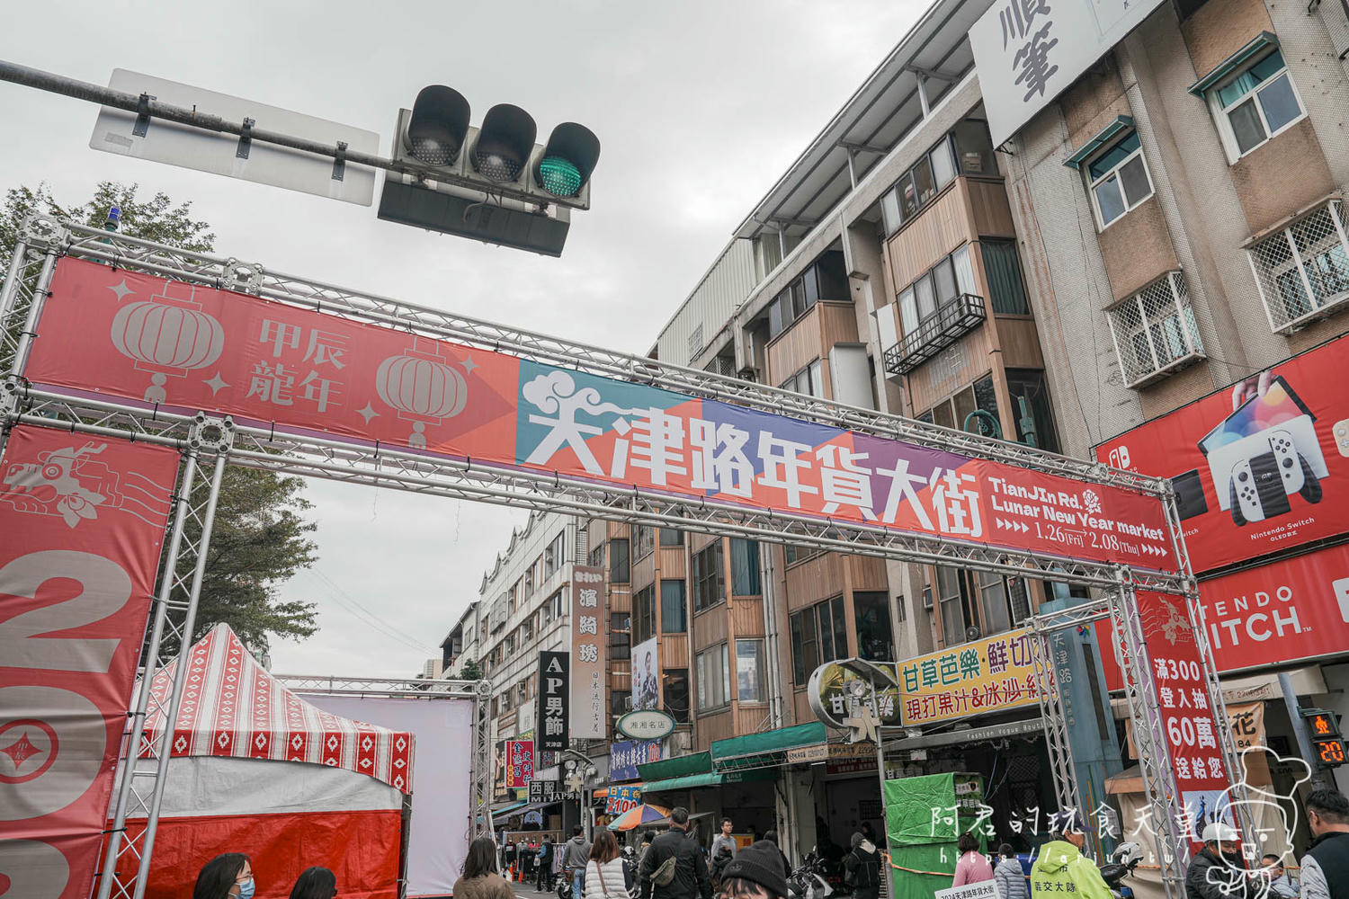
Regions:
<instances>
[{"instance_id":1,"label":"vertical red banner reading \u6eff300 and 60\u842c on the right truss leg","mask_svg":"<svg viewBox=\"0 0 1349 899\"><path fill-rule=\"evenodd\" d=\"M1228 791L1232 780L1218 741L1218 728L1228 722L1218 722L1209 705L1203 660L1184 600L1149 592L1139 592L1137 598L1171 775L1184 806L1178 825L1188 836L1193 855L1203 848L1199 837L1205 826L1215 821L1238 826Z\"/></svg>"}]
</instances>

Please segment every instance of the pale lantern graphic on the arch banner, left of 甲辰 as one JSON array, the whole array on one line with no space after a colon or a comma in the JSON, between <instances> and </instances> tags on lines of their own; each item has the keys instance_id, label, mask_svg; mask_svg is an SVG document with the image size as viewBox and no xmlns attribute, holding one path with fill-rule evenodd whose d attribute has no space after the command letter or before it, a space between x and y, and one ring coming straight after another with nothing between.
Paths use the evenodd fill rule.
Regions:
<instances>
[{"instance_id":1,"label":"pale lantern graphic on the arch banner, left of \u7532\u8fb0","mask_svg":"<svg viewBox=\"0 0 1349 899\"><path fill-rule=\"evenodd\" d=\"M124 291L125 282L119 287ZM225 346L225 329L201 311L194 292L190 284L167 282L163 294L127 303L112 319L112 345L135 361L138 371L151 372L147 403L166 402L169 377L186 377L188 372L210 365Z\"/></svg>"}]
</instances>

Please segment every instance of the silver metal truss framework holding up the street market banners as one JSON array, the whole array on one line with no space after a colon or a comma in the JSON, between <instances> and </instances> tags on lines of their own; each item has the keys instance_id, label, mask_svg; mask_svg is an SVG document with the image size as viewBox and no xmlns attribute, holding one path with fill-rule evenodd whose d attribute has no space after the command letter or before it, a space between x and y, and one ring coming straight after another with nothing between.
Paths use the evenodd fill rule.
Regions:
<instances>
[{"instance_id":1,"label":"silver metal truss framework holding up the street market banners","mask_svg":"<svg viewBox=\"0 0 1349 899\"><path fill-rule=\"evenodd\" d=\"M63 255L252 294L353 321L451 340L467 346L505 352L519 359L561 365L604 377L724 400L766 412L785 414L803 421L902 439L920 446L962 453L973 458L992 460L1078 481L1137 491L1159 497L1167 508L1167 522L1178 558L1182 559L1182 570L1179 573L1156 573L1141 569L1121 569L1108 562L1044 557L1031 551L1002 550L977 543L908 534L876 524L770 512L703 497L645 493L611 484L579 478L568 480L556 473L507 469L472 460L438 458L378 443L364 445L359 441L328 439L267 427L243 426L229 418L209 418L205 412L197 415L169 414L119 402L43 391L23 379L23 364L35 336L40 301L50 284L55 260ZM1097 617L1103 615L1126 616L1126 612L1116 611L1126 609L1126 607L1132 607L1136 616L1137 607L1132 602L1132 590L1135 589L1182 594L1187 598L1191 617L1199 616L1201 628L1197 632L1202 635L1202 611L1195 602L1194 578L1188 563L1184 562L1179 520L1175 515L1170 484L1166 480L1045 453L1021 443L992 439L874 410L803 396L712 372L669 365L641 356L616 353L546 334L506 328L386 297L349 291L322 282L274 272L259 264L232 257L182 251L82 225L62 224L47 217L38 216L26 222L9 261L3 290L0 290L0 372L8 373L7 379L0 383L0 426L3 426L4 434L8 434L8 429L13 425L26 423L152 442L177 447L183 453L183 474L179 484L177 514L167 543L170 547L167 577L155 605L152 638L143 659L147 673L143 685L148 685L152 673L163 664L159 652L166 631L175 635L179 644L186 644L190 640L201 573L205 565L206 542L210 534L210 516L219 496L220 476L227 462L287 474L389 487L515 508L556 511L630 524L695 530L720 536L745 536L761 542L792 543L911 563L955 565L1009 576L1039 577L1094 586L1110 592L1112 596L1122 597L1122 600L1110 601L1109 608L1093 609L1091 613ZM206 499L202 504L201 500L192 496L192 488L198 472L205 470L204 466L209 466L210 489L206 491ZM192 519L201 524L201 538L196 543L183 539L185 523ZM194 559L192 577L186 581L178 574L185 558ZM1037 629L1037 636L1060 627L1064 620L1063 615L1086 615L1086 612L1059 613L1059 617L1055 619L1056 623L1047 621ZM1137 635L1141 635L1141 629L1133 627L1126 617L1118 621L1122 627L1117 627L1117 633L1124 635L1124 639L1136 640ZM1032 640L1032 646L1039 647L1037 678L1040 678L1041 685L1048 685L1048 656L1041 655L1047 644L1036 639ZM1211 675L1211 652L1209 652L1206 640L1202 642L1202 646L1210 666L1213 708L1221 709L1222 698L1221 693L1217 691L1217 678ZM1139 660L1144 663L1139 664ZM1129 643L1121 667L1125 671L1125 679L1133 685L1139 697L1152 695L1152 673L1145 664L1145 647ZM181 675L182 667L178 670L178 677L181 678ZM475 832L490 828L488 682L298 677L286 677L283 682L293 689L320 693L428 698L469 698L472 694L476 702L472 828ZM162 713L170 721L177 717L181 693L182 685L178 681L169 702L162 708ZM1050 690L1041 690L1041 694L1050 693ZM113 891L116 891L117 899L142 899L144 894L169 756L163 737L155 741L156 745L148 745L148 740L146 740L143 724L148 704L152 701L152 697L148 695L148 687L143 686L128 710L128 739L123 748L115 826L109 834L107 865L100 883L100 899L109 899ZM1155 702L1148 706L1141 698L1130 700L1130 710L1135 714L1136 735L1141 735L1144 743L1155 740L1156 735L1160 733L1155 726L1159 721ZM1081 807L1072 776L1062 704L1058 702L1056 697L1044 700L1041 713L1050 737L1050 752L1051 759L1054 759L1052 767L1060 802ZM1149 714L1153 717L1147 717ZM1230 743L1230 735L1226 733L1226 729L1218 728L1218 731ZM165 733L169 732L171 728L165 731ZM155 764L142 766L143 770L138 771L134 760L142 753L148 753ZM1157 753L1153 757L1163 756ZM884 760L881 771L884 772ZM1161 784L1159 778L1160 775L1149 782L1149 788L1152 788L1153 782ZM1163 786L1157 786L1149 794L1151 802L1159 802L1153 797L1175 802L1175 797L1167 794ZM124 822L128 815L135 814L146 814L148 824L136 840L130 840L124 834ZM1170 815L1170 819L1174 822L1175 817ZM127 877L132 868L136 872L135 886L128 890L121 886L124 881L115 877L113 873L120 871L121 876ZM1170 886L1171 880L1168 879L1168 890Z\"/></svg>"}]
</instances>

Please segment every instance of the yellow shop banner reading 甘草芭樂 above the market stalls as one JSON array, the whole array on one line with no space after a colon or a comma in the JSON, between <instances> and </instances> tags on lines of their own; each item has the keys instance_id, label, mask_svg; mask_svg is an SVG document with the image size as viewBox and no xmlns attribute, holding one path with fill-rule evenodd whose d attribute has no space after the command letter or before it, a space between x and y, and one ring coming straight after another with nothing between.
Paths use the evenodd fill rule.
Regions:
<instances>
[{"instance_id":1,"label":"yellow shop banner reading \u7518\u8349\u82ad\u6a02 above the market stalls","mask_svg":"<svg viewBox=\"0 0 1349 899\"><path fill-rule=\"evenodd\" d=\"M1039 702L1025 628L900 662L898 675L905 726Z\"/></svg>"}]
</instances>

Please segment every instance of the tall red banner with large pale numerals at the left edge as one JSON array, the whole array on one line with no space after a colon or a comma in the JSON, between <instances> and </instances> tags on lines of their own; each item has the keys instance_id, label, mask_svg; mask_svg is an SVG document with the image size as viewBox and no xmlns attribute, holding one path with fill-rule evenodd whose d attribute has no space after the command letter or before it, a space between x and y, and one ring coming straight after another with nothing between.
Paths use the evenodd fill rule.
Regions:
<instances>
[{"instance_id":1,"label":"tall red banner with large pale numerals at the left edge","mask_svg":"<svg viewBox=\"0 0 1349 899\"><path fill-rule=\"evenodd\" d=\"M177 468L178 454L159 446L28 426L9 434L0 458L5 895L89 895Z\"/></svg>"}]
</instances>

